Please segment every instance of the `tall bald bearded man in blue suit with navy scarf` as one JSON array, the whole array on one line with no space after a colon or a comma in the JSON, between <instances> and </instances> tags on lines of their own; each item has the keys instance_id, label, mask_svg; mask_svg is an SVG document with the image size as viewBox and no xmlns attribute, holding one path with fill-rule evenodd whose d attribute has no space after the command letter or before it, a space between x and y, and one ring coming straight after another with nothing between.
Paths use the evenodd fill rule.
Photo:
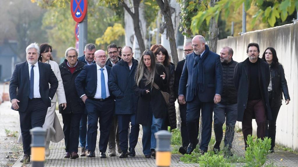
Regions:
<instances>
[{"instance_id":1,"label":"tall bald bearded man in blue suit with navy scarf","mask_svg":"<svg viewBox=\"0 0 298 167\"><path fill-rule=\"evenodd\" d=\"M214 104L221 101L222 66L220 56L209 50L205 38L201 35L193 37L193 53L185 60L179 82L179 103L187 102L187 131L190 144L187 154L191 154L198 144L198 128L196 126L202 113L202 142L200 152L208 150L212 131L212 112Z\"/></svg>"}]
</instances>

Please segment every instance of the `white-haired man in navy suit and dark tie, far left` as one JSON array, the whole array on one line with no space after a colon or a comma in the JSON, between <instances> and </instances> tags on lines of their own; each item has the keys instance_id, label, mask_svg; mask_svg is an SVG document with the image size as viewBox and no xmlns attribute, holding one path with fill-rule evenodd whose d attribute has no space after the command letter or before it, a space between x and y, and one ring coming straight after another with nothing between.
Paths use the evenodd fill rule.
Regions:
<instances>
[{"instance_id":1,"label":"white-haired man in navy suit and dark tie, far left","mask_svg":"<svg viewBox=\"0 0 298 167\"><path fill-rule=\"evenodd\" d=\"M30 162L29 130L44 125L46 111L51 106L51 99L58 88L58 80L51 66L38 62L40 49L37 43L27 46L26 53L27 61L15 65L9 85L11 108L20 115L24 150L21 162Z\"/></svg>"}]
</instances>

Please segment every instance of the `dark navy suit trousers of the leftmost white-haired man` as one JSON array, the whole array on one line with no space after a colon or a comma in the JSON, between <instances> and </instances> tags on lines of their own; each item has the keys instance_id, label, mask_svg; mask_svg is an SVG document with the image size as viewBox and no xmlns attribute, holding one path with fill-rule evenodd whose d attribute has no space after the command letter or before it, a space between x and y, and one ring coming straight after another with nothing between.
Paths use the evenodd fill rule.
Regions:
<instances>
[{"instance_id":1,"label":"dark navy suit trousers of the leftmost white-haired man","mask_svg":"<svg viewBox=\"0 0 298 167\"><path fill-rule=\"evenodd\" d=\"M25 112L19 112L24 154L31 154L30 129L44 125L47 110L48 106L41 98L33 98L28 100Z\"/></svg>"}]
</instances>

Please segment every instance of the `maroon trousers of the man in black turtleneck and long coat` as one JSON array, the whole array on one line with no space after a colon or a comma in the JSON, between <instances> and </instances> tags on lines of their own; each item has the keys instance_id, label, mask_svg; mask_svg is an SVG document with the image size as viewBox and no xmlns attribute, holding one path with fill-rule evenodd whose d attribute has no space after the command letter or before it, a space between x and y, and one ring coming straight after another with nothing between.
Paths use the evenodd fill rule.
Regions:
<instances>
[{"instance_id":1,"label":"maroon trousers of the man in black turtleneck and long coat","mask_svg":"<svg viewBox=\"0 0 298 167\"><path fill-rule=\"evenodd\" d=\"M252 135L252 119L254 117L257 122L257 138L263 139L265 137L266 110L262 99L247 101L242 121L245 147L247 147L247 136Z\"/></svg>"}]
</instances>

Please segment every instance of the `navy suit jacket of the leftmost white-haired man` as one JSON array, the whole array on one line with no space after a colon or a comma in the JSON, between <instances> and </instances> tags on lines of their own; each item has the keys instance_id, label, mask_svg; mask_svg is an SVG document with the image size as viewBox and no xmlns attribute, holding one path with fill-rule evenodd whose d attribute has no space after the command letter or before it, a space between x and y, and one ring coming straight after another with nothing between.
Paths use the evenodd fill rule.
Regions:
<instances>
[{"instance_id":1,"label":"navy suit jacket of the leftmost white-haired man","mask_svg":"<svg viewBox=\"0 0 298 167\"><path fill-rule=\"evenodd\" d=\"M51 99L53 99L58 88L58 80L51 69L50 64L38 62L39 69L39 93L41 99L47 107L51 106ZM49 87L49 84L51 85ZM25 112L30 91L30 78L28 62L15 64L13 75L10 79L9 95L10 99L18 99L19 109L16 111ZM13 109L11 107L11 109ZM14 110L14 109L13 109Z\"/></svg>"}]
</instances>

